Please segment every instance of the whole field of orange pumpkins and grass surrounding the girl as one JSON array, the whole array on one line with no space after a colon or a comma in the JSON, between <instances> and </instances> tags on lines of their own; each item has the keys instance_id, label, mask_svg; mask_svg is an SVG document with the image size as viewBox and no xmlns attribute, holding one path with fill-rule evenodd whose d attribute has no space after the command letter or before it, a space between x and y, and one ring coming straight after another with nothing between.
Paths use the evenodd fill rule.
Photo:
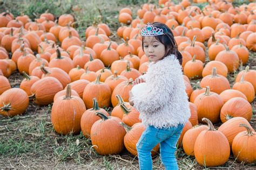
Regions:
<instances>
[{"instance_id":1,"label":"whole field of orange pumpkins and grass surrounding the girl","mask_svg":"<svg viewBox=\"0 0 256 170\"><path fill-rule=\"evenodd\" d=\"M183 56L179 168L255 169L256 3L239 0L0 0L0 167L139 169L129 91L153 22Z\"/></svg>"}]
</instances>

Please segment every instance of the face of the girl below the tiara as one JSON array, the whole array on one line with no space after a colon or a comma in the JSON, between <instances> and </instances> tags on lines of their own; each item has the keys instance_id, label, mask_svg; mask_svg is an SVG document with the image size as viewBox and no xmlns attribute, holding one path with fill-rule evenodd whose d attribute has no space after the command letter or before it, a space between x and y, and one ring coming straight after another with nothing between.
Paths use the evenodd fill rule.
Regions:
<instances>
[{"instance_id":1,"label":"face of the girl below the tiara","mask_svg":"<svg viewBox=\"0 0 256 170\"><path fill-rule=\"evenodd\" d=\"M143 48L145 55L151 61L158 61L164 57L165 46L156 40L154 36L143 37Z\"/></svg>"}]
</instances>

